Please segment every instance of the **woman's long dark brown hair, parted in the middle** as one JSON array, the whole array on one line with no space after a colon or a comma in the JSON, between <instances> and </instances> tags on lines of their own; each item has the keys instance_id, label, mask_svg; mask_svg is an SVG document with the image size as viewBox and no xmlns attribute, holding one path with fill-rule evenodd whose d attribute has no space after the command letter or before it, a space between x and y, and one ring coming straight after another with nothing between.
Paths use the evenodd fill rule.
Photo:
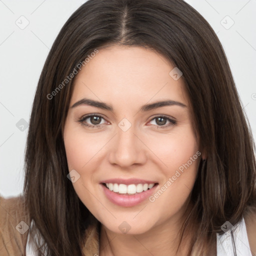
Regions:
<instances>
[{"instance_id":1,"label":"woman's long dark brown hair, parted in the middle","mask_svg":"<svg viewBox=\"0 0 256 256\"><path fill-rule=\"evenodd\" d=\"M256 208L255 146L224 50L208 22L183 0L88 0L54 41L30 116L24 198L34 221L32 239L36 243L37 231L44 239L37 244L38 255L44 249L49 255L82 255L91 213L66 177L62 128L73 78L63 81L88 54L112 44L151 48L183 73L193 128L206 160L199 164L180 240L197 223L190 252L198 243L205 249L201 254L215 254L221 225L226 220L234 225Z\"/></svg>"}]
</instances>

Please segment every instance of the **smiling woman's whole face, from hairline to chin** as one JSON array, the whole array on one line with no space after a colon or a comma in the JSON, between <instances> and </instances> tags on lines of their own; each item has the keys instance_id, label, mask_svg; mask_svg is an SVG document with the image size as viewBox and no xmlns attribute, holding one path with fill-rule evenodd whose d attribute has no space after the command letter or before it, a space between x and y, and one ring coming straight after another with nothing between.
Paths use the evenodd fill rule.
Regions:
<instances>
[{"instance_id":1,"label":"smiling woman's whole face, from hairline to chin","mask_svg":"<svg viewBox=\"0 0 256 256\"><path fill-rule=\"evenodd\" d=\"M68 169L80 200L112 232L165 225L189 198L200 151L173 68L152 50L111 46L75 77L63 130Z\"/></svg>"}]
</instances>

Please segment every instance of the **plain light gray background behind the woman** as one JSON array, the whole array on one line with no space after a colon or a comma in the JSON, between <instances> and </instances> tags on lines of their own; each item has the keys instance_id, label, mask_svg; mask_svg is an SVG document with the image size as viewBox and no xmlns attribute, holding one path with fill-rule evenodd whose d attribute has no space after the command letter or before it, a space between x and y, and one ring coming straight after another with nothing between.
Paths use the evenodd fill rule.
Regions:
<instances>
[{"instance_id":1,"label":"plain light gray background behind the woman","mask_svg":"<svg viewBox=\"0 0 256 256\"><path fill-rule=\"evenodd\" d=\"M217 33L256 138L256 0L186 1ZM0 0L0 195L22 191L26 122L36 84L53 40L83 2Z\"/></svg>"}]
</instances>

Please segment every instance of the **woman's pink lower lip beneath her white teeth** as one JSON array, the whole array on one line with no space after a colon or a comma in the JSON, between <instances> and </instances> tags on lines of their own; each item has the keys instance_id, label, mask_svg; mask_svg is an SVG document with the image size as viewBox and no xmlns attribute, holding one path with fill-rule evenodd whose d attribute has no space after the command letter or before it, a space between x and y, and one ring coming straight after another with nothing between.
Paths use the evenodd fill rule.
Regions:
<instances>
[{"instance_id":1,"label":"woman's pink lower lip beneath her white teeth","mask_svg":"<svg viewBox=\"0 0 256 256\"><path fill-rule=\"evenodd\" d=\"M140 202L147 199L155 190L156 185L154 185L152 188L147 189L143 192L137 193L137 194L118 194L113 191L110 191L107 187L105 187L102 183L100 184L103 188L103 192L106 195L106 197L114 204L117 204L119 206L124 207L130 207L139 204Z\"/></svg>"}]
</instances>

